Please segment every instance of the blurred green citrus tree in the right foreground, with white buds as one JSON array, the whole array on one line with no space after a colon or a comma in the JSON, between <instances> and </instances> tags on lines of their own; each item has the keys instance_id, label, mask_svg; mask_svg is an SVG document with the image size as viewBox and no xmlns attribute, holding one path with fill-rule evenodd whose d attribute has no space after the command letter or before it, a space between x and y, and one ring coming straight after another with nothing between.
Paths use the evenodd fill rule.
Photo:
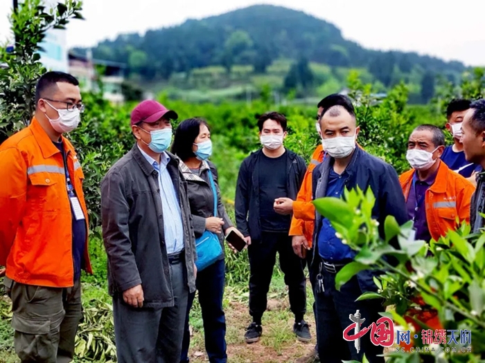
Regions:
<instances>
[{"instance_id":1,"label":"blurred green citrus tree in the right foreground, with white buds","mask_svg":"<svg viewBox=\"0 0 485 363\"><path fill-rule=\"evenodd\" d=\"M314 201L342 241L358 252L337 273L336 288L362 270L384 272L375 278L376 292L360 299L385 301L391 309L383 315L394 320L396 330L409 331L412 342L392 346L388 362L479 362L485 353L485 234L470 234L464 224L439 241L414 241L409 238L412 222L400 226L388 216L379 226L372 218L375 202L371 189ZM423 311L435 313L438 324L423 322ZM469 339L462 339L463 331Z\"/></svg>"}]
</instances>

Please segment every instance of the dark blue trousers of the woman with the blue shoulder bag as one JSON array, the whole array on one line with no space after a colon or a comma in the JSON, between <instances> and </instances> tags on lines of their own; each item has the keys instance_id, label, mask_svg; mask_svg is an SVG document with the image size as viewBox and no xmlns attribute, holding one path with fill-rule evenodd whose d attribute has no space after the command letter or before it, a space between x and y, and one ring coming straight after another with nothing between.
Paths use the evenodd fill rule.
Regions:
<instances>
[{"instance_id":1,"label":"dark blue trousers of the woman with the blue shoulder bag","mask_svg":"<svg viewBox=\"0 0 485 363\"><path fill-rule=\"evenodd\" d=\"M222 296L224 295L224 260L197 272L197 290L199 304L204 323L204 340L206 352L211 363L226 363L226 317L222 310ZM185 320L184 342L182 342L182 357L180 362L188 362L188 346L191 335L188 331L188 316L192 308L195 292L188 297L187 314Z\"/></svg>"}]
</instances>

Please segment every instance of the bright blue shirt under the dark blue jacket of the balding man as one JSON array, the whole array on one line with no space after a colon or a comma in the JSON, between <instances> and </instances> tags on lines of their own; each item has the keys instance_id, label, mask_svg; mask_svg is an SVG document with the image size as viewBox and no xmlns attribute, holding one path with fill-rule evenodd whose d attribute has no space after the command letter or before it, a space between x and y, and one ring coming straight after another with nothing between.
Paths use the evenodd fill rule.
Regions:
<instances>
[{"instance_id":1,"label":"bright blue shirt under the dark blue jacket of the balding man","mask_svg":"<svg viewBox=\"0 0 485 363\"><path fill-rule=\"evenodd\" d=\"M340 198L344 192L345 180L348 178L346 171L339 175L335 173L333 167L328 174L328 184L325 196ZM321 228L318 234L318 252L324 261L340 262L353 259L355 252L344 245L342 240L335 236L335 229L327 218L322 217Z\"/></svg>"}]
</instances>

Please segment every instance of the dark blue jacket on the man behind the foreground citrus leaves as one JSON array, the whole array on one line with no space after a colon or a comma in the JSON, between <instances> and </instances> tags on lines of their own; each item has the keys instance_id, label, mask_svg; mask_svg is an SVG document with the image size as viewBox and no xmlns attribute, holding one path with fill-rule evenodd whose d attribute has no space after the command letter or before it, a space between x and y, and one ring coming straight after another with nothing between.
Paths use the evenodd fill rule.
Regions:
<instances>
[{"instance_id":1,"label":"dark blue jacket on the man behind the foreground citrus leaves","mask_svg":"<svg viewBox=\"0 0 485 363\"><path fill-rule=\"evenodd\" d=\"M334 158L326 156L312 174L313 199L323 198L326 194L328 174L333 167ZM351 162L346 168L348 175L345 180L346 189L360 187L364 192L370 187L376 196L376 205L372 210L372 217L379 222L379 233L384 237L384 221L387 216L394 216L399 225L408 221L406 203L403 189L400 187L398 174L394 167L382 161L376 156L360 149L355 149ZM318 234L321 228L321 215L315 212L315 232L313 232L313 260L312 268L319 265ZM315 258L317 257L317 258ZM362 292L375 291L376 284L373 282L375 272L364 270L357 274L359 286Z\"/></svg>"}]
</instances>

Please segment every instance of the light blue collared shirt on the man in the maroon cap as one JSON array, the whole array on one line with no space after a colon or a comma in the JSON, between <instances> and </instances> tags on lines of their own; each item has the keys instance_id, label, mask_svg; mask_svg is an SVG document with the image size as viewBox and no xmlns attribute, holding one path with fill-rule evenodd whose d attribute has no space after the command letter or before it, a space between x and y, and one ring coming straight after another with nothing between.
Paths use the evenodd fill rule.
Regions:
<instances>
[{"instance_id":1,"label":"light blue collared shirt on the man in the maroon cap","mask_svg":"<svg viewBox=\"0 0 485 363\"><path fill-rule=\"evenodd\" d=\"M161 153L159 164L157 160L145 153L140 147L138 149L150 165L158 171L158 184L162 212L164 213L164 234L165 245L168 254L175 254L184 249L184 226L182 224L182 212L180 211L177 193L173 186L173 180L168 173L167 165L170 156Z\"/></svg>"}]
</instances>

